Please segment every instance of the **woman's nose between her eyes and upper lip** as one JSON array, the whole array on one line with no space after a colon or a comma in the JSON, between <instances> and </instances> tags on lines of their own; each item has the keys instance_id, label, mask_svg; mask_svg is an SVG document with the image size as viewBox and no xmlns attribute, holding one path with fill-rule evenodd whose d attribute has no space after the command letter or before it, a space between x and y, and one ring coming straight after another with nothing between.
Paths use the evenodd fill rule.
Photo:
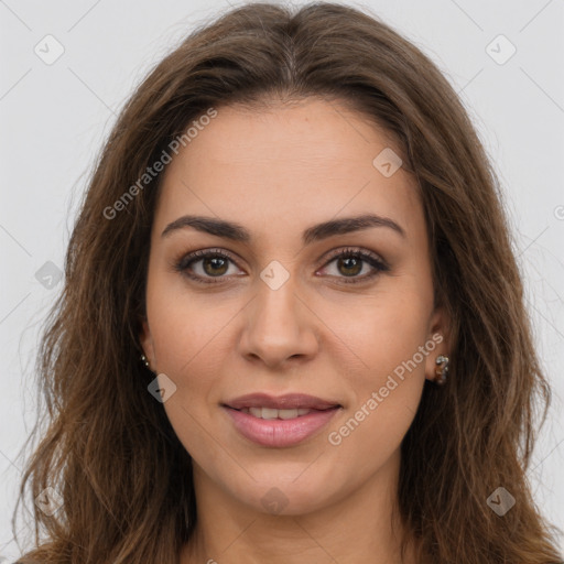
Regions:
<instances>
[{"instance_id":1,"label":"woman's nose between her eyes and upper lip","mask_svg":"<svg viewBox=\"0 0 564 564\"><path fill-rule=\"evenodd\" d=\"M257 295L243 310L245 327L239 341L240 354L247 359L280 368L315 356L321 322L296 292L293 278L276 290L257 281Z\"/></svg>"}]
</instances>

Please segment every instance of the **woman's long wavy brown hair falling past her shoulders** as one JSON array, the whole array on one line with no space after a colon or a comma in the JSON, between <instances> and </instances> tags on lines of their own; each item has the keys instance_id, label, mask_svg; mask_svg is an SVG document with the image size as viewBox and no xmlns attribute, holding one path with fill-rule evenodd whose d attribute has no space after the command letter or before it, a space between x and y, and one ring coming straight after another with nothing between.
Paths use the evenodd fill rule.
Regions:
<instances>
[{"instance_id":1,"label":"woman's long wavy brown hair falling past her shoulders","mask_svg":"<svg viewBox=\"0 0 564 564\"><path fill-rule=\"evenodd\" d=\"M53 487L63 506L46 516L32 505L35 545L21 563L177 562L197 519L191 457L148 393L154 375L139 360L163 174L142 187L139 178L210 108L260 111L308 97L347 105L392 135L416 178L435 300L451 319L449 380L425 382L401 444L402 552L411 539L417 562L562 562L525 474L551 390L494 167L427 56L376 15L315 2L248 4L200 25L120 112L84 196L37 356L47 426L17 509L30 487L33 498ZM128 187L134 197L123 203ZM503 517L487 503L500 486L516 500Z\"/></svg>"}]
</instances>

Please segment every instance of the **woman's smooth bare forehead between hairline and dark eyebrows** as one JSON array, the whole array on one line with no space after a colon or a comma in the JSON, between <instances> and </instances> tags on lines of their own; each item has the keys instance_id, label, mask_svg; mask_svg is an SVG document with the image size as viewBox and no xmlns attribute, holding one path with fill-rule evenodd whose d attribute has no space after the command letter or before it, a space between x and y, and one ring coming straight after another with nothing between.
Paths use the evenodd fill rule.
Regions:
<instances>
[{"instance_id":1,"label":"woman's smooth bare forehead between hairline and dark eyebrows","mask_svg":"<svg viewBox=\"0 0 564 564\"><path fill-rule=\"evenodd\" d=\"M311 224L372 212L416 228L413 177L380 167L399 152L389 133L334 101L219 107L167 165L155 224L200 213L251 230L293 229L304 216Z\"/></svg>"}]
</instances>

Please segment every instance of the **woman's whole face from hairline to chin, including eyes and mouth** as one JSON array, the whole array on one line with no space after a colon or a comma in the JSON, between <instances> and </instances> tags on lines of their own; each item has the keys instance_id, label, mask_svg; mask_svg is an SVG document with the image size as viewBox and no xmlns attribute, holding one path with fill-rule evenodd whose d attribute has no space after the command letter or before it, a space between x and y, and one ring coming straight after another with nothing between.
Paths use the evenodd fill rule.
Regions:
<instances>
[{"instance_id":1,"label":"woman's whole face from hairline to chin, including eyes and mouth","mask_svg":"<svg viewBox=\"0 0 564 564\"><path fill-rule=\"evenodd\" d=\"M423 208L390 151L310 98L218 108L167 165L141 343L197 488L299 514L397 471L446 350Z\"/></svg>"}]
</instances>

